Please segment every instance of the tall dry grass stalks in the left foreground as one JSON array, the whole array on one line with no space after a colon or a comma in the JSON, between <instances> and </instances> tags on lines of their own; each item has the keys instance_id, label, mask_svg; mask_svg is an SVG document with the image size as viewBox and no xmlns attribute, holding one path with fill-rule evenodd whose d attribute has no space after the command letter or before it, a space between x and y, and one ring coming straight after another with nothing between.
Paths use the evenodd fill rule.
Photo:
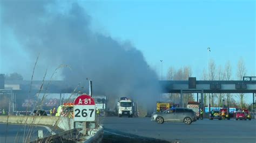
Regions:
<instances>
[{"instance_id":1,"label":"tall dry grass stalks in the left foreground","mask_svg":"<svg viewBox=\"0 0 256 143\"><path fill-rule=\"evenodd\" d=\"M30 82L30 90L29 90L29 99L30 99L30 94L31 94L31 90L32 90L32 81L33 81L33 76L34 76L34 74L35 74L35 69L36 69L36 65L37 65L37 62L38 62L38 59L39 59L39 54L38 54L38 56L37 56L37 59L36 59L36 62L35 62L35 65L34 65L34 67L33 67L33 71L32 71L32 76L31 76L31 82ZM42 91L44 91L44 94L43 94L43 97L42 97L42 99L41 99L41 101L38 101L38 102L35 102L35 103L33 103L33 108L32 108L32 111L34 111L34 110L39 110L39 109L42 109L42 106L43 106L43 103L44 103L44 101L45 101L45 99L46 99L46 97L48 96L48 89L49 89L49 86L50 86L50 84L51 84L51 82L52 82L52 79L53 79L53 76L57 73L57 70L59 70L59 69L61 69L61 68L70 68L68 65L60 65L60 66L58 66L54 71L53 71L53 73L52 73L52 75L51 75L51 78L50 78L50 80L49 80L49 82L48 82L48 84L46 85L46 86L44 86L44 84L45 84L45 77L46 77L46 75L48 74L48 70L46 69L45 70L45 74L44 74L44 76L43 76L43 80L42 80L42 83L41 83L41 87L39 88L39 90L38 90L38 94L36 95L36 98L38 98L38 96L39 96L39 94L41 94L41 92ZM70 68L71 69L71 68ZM44 88L45 87L45 88ZM68 99L66 99L66 101L70 101L71 99L73 99L73 98L75 98L75 97L77 97L77 95L78 94L82 94L83 93L83 91L77 91L77 89L80 87L80 89L83 89L83 87L84 86L80 86L80 83L78 83L78 85L77 85L77 87L72 91L72 93L71 93L71 95L69 96L69 98ZM43 90L44 89L44 90ZM26 115L28 114L28 109L29 109L29 105L26 107ZM68 113L68 115L69 114L71 114L72 113L72 111L70 111L69 113ZM38 118L39 118L39 121L38 121ZM8 116L8 118L7 118L7 123L6 123L6 128L5 128L5 131L6 131L6 135L5 135L5 142L6 142L6 138L7 138L7 133L8 133L8 119L9 119L9 116ZM39 126L39 124L40 124L40 120L42 119L42 116L32 116L32 120L31 120L31 116L26 116L25 118L20 118L20 119L18 119L17 120L17 123L20 123L20 124L24 124L24 126L23 126L23 130L24 130L24 132L23 132L23 142L30 142L30 138L31 138L31 135L32 135L32 133L33 133L33 129L35 128L35 127L37 127L37 126ZM52 123L52 127L51 127L51 132L50 132L50 134L52 134L53 132L56 132L57 130L59 130L59 127L58 127L58 124L60 123L60 121L61 121L61 117L59 117L56 121L55 121L55 123ZM98 123L99 124L99 123ZM69 127L71 127L71 125L73 125L73 122L71 123L71 120L70 119L68 119L68 125L69 125ZM96 126L98 126L98 125L96 125ZM71 128L70 128L71 129ZM27 131L26 131L27 130ZM16 134L16 137L15 137L15 142L18 142L19 141L19 139L18 139L18 132L17 132L17 134ZM45 133L44 133L44 135L45 135ZM77 135L77 137L78 137L78 135ZM72 139L71 139L72 140ZM73 140L75 140L75 139L73 139ZM46 140L46 141L51 141L51 135L49 136L49 138ZM61 142L64 142L62 139L60 139L60 141Z\"/></svg>"}]
</instances>

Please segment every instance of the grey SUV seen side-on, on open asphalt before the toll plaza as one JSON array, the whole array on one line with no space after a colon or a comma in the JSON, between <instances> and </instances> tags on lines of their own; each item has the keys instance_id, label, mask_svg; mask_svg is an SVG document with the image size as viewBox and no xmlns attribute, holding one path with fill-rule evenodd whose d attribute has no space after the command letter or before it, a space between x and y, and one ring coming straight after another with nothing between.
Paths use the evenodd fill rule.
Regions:
<instances>
[{"instance_id":1,"label":"grey SUV seen side-on, on open asphalt before the toll plaza","mask_svg":"<svg viewBox=\"0 0 256 143\"><path fill-rule=\"evenodd\" d=\"M191 124L196 121L196 116L193 110L187 108L171 108L161 113L153 113L151 120L158 124L163 124L165 121L184 122Z\"/></svg>"}]
</instances>

